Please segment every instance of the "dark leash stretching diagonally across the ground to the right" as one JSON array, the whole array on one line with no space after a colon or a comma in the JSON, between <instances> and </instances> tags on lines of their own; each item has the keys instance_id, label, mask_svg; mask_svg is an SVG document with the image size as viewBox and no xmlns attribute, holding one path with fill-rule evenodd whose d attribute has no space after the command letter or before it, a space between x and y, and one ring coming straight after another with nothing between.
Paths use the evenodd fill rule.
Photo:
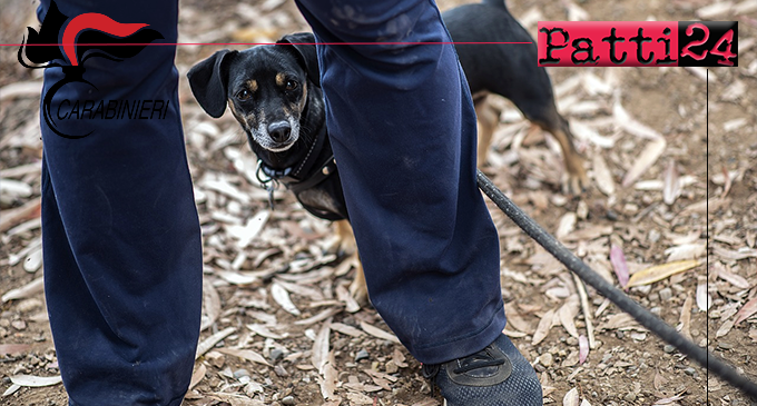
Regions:
<instances>
[{"instance_id":1,"label":"dark leash stretching diagonally across the ground to the right","mask_svg":"<svg viewBox=\"0 0 757 406\"><path fill-rule=\"evenodd\" d=\"M662 319L651 314L641 305L623 294L620 289L607 283L601 276L594 273L581 259L576 257L568 248L560 244L554 237L547 232L532 218L530 218L520 207L515 206L502 190L486 178L480 170L478 171L479 188L510 217L525 234L533 238L539 245L544 247L554 258L562 263L570 271L578 275L583 281L592 286L618 306L621 310L633 316L639 324L655 333L657 336L678 348L681 354L696 360L699 365L711 370L715 375L741 389L745 394L757 400L757 384L740 375L733 366L710 354L706 348L701 348L675 328L668 326Z\"/></svg>"}]
</instances>

